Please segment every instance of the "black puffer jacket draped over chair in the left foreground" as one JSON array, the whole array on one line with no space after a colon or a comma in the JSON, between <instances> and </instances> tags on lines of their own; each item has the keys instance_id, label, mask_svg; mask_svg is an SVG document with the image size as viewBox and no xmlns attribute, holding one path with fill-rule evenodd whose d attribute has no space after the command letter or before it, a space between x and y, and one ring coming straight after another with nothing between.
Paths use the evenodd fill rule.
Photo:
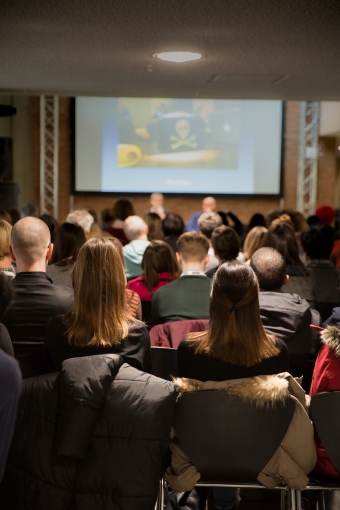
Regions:
<instances>
[{"instance_id":1,"label":"black puffer jacket draped over chair in the left foreground","mask_svg":"<svg viewBox=\"0 0 340 510\"><path fill-rule=\"evenodd\" d=\"M154 510L176 396L116 354L26 379L1 510Z\"/></svg>"}]
</instances>

